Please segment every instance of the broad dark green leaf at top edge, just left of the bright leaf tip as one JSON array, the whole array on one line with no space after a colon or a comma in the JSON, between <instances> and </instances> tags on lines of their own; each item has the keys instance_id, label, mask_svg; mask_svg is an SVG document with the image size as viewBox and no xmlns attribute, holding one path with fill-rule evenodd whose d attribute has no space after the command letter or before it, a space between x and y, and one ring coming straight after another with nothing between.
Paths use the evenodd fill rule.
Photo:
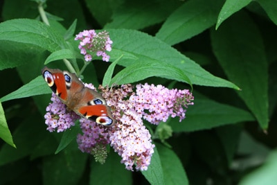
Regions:
<instances>
[{"instance_id":1,"label":"broad dark green leaf at top edge, just left of the bright leaf tip","mask_svg":"<svg viewBox=\"0 0 277 185\"><path fill-rule=\"evenodd\" d=\"M168 17L157 37L174 45L202 33L215 24L222 1L187 1Z\"/></svg>"}]
</instances>

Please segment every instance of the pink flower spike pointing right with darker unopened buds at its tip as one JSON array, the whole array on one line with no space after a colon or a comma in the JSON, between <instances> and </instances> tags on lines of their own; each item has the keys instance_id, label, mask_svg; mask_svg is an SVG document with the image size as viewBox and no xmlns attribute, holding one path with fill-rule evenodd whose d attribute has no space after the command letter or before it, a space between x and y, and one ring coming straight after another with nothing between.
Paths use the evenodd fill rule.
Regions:
<instances>
[{"instance_id":1,"label":"pink flower spike pointing right with darker unopened buds at its tip","mask_svg":"<svg viewBox=\"0 0 277 185\"><path fill-rule=\"evenodd\" d=\"M143 114L143 118L153 124L166 122L179 116L179 121L185 118L188 105L193 105L192 94L187 89L168 89L162 85L136 85L136 94L129 98L134 104L136 112Z\"/></svg>"}]
</instances>

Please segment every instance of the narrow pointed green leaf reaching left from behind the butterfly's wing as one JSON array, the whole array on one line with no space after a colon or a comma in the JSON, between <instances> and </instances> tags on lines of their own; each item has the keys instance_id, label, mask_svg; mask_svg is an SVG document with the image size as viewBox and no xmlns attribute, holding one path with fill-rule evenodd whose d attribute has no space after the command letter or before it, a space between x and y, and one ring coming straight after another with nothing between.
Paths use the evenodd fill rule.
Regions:
<instances>
[{"instance_id":1,"label":"narrow pointed green leaf reaching left from behind the butterfly's wing","mask_svg":"<svg viewBox=\"0 0 277 185\"><path fill-rule=\"evenodd\" d=\"M0 98L0 100L1 102L4 102L7 100L26 98L40 94L51 94L51 89L49 89L48 85L46 85L46 82L43 80L42 76L38 76L37 78L30 81L28 84L20 87L16 91L3 96L2 98Z\"/></svg>"}]
</instances>

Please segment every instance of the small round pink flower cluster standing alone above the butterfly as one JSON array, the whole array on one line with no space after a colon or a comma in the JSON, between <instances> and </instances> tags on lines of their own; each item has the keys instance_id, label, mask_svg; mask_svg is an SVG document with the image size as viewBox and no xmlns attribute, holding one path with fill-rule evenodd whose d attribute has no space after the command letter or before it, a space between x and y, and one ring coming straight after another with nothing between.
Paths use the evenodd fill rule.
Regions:
<instances>
[{"instance_id":1,"label":"small round pink flower cluster standing alone above the butterfly","mask_svg":"<svg viewBox=\"0 0 277 185\"><path fill-rule=\"evenodd\" d=\"M96 54L98 57L102 56L103 61L109 62L109 55L106 51L111 51L112 41L106 30L100 33L96 33L95 30L84 30L76 35L75 40L80 40L78 48L84 55L85 61L90 62Z\"/></svg>"}]
</instances>

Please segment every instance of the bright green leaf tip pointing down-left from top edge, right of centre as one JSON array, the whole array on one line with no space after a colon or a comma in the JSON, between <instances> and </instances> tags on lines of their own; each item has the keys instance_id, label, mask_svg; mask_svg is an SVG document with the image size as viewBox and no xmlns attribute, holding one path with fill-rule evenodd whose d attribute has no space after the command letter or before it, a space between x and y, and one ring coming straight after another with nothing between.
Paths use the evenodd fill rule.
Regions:
<instances>
[{"instance_id":1,"label":"bright green leaf tip pointing down-left from top edge, right of centre","mask_svg":"<svg viewBox=\"0 0 277 185\"><path fill-rule=\"evenodd\" d=\"M220 10L220 15L218 15L215 29L217 30L224 20L247 6L250 2L251 0L226 0L224 6Z\"/></svg>"}]
</instances>

